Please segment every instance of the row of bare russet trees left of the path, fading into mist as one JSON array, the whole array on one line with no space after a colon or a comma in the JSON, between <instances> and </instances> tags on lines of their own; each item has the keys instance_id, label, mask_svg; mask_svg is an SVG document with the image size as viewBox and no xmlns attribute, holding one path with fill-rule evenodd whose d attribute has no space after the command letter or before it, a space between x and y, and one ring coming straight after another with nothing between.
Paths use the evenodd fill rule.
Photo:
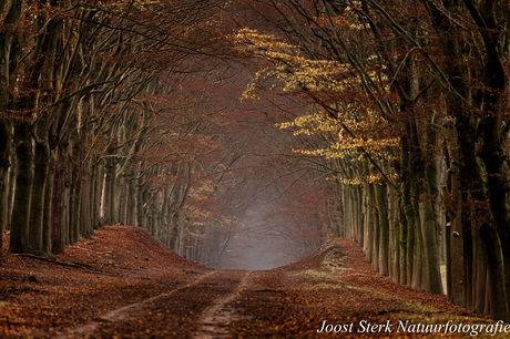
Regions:
<instances>
[{"instance_id":1,"label":"row of bare russet trees left of the path, fading into mist","mask_svg":"<svg viewBox=\"0 0 510 339\"><path fill-rule=\"evenodd\" d=\"M249 74L233 62L226 4L0 1L0 230L10 251L51 256L123 224L218 264L253 192L285 167L264 155L267 127L276 132L269 109L241 113ZM271 179L257 157L276 165ZM247 187L248 174L259 187ZM300 246L318 244L305 234Z\"/></svg>"}]
</instances>

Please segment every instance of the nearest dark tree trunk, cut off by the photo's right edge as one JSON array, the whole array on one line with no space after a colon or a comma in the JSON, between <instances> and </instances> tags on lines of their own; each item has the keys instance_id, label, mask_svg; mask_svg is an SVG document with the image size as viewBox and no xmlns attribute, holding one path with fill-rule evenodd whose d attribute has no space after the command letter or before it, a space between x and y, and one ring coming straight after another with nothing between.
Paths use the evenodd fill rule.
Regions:
<instances>
[{"instance_id":1,"label":"nearest dark tree trunk, cut off by the photo's right edge","mask_svg":"<svg viewBox=\"0 0 510 339\"><path fill-rule=\"evenodd\" d=\"M486 85L482 100L478 106L484 107L487 111L482 121L482 147L481 158L487 171L487 187L492 212L493 223L498 230L498 236L492 235L492 229L481 229L482 238L489 237L488 242L492 242L493 246L488 248L489 258L489 275L493 276L498 281L491 281L491 288L498 288L494 294L498 296L491 298L492 316L502 317L507 312L507 318L498 318L509 320L510 315L510 168L508 164L508 135L503 131L503 116L508 114L508 84L507 73L503 68L503 60L508 60L510 53L508 49L501 51L500 43L508 43L508 28L501 28L501 20L506 20L510 16L507 1L491 1L480 3L479 9L471 6L470 1L465 1L479 25L480 34L486 48L486 62L482 81ZM483 22L481 22L482 20ZM479 96L477 96L479 99ZM489 246L489 245L488 245ZM497 248L501 248L502 257L499 253L492 253ZM501 273L497 269L500 260L503 264L504 270ZM496 261L496 263L494 263ZM498 266L492 266L498 265ZM502 285L502 286L500 286ZM502 294L504 291L504 294ZM504 309L502 306L494 306L493 299L506 299ZM500 309L494 310L492 308Z\"/></svg>"}]
</instances>

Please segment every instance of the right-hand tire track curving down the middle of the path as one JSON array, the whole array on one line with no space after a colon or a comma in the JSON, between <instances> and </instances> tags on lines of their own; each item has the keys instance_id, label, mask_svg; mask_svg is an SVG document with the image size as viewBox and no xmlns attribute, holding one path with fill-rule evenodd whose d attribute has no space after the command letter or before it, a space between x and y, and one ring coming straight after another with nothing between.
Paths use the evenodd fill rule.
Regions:
<instances>
[{"instance_id":1,"label":"right-hand tire track curving down the middle of the path","mask_svg":"<svg viewBox=\"0 0 510 339\"><path fill-rule=\"evenodd\" d=\"M235 300L243 290L247 289L252 271L244 271L242 275L239 282L230 294L216 299L212 306L202 312L197 321L198 329L194 338L208 339L230 337L226 328L237 315L235 310L227 305Z\"/></svg>"}]
</instances>

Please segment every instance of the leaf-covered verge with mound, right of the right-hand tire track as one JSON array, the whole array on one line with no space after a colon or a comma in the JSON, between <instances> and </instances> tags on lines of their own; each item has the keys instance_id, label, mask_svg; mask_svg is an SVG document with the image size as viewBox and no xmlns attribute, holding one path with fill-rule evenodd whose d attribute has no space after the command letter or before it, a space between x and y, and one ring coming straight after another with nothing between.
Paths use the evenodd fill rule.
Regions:
<instances>
[{"instance_id":1,"label":"leaf-covered verge with mound, right of the right-hand tire track","mask_svg":"<svg viewBox=\"0 0 510 339\"><path fill-rule=\"evenodd\" d=\"M448 302L446 296L412 290L375 274L359 246L347 239L334 239L304 260L256 276L252 289L235 301L235 307L242 316L232 325L234 338L249 338L251 333L279 333L283 338L437 338L442 333L418 332L418 325L494 323ZM324 320L347 326L347 330L337 327L336 333L318 333ZM398 332L399 321L414 327ZM390 323L391 331L381 327L366 332L368 323ZM445 337L466 336L469 333L449 332ZM478 335L486 336L490 337Z\"/></svg>"}]
</instances>

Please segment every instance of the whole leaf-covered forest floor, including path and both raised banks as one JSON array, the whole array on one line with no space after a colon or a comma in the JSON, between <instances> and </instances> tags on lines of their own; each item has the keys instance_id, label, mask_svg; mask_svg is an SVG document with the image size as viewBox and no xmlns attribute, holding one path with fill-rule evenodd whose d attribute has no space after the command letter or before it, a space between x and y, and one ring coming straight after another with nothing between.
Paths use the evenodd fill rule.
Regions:
<instances>
[{"instance_id":1,"label":"whole leaf-covered forest floor, including path and both raised banks","mask_svg":"<svg viewBox=\"0 0 510 339\"><path fill-rule=\"evenodd\" d=\"M345 239L261 271L190 263L129 226L98 230L54 261L4 256L0 338L504 336L445 296L375 274Z\"/></svg>"}]
</instances>

